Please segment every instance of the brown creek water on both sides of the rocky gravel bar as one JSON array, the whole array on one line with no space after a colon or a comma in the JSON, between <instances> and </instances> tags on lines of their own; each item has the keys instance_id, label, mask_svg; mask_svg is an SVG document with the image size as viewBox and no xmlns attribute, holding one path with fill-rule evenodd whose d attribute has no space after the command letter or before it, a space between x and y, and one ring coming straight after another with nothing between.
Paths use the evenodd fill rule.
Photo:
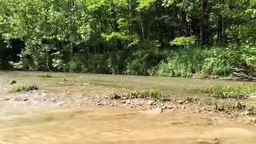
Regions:
<instances>
[{"instance_id":1,"label":"brown creek water on both sides of the rocky gravel bar","mask_svg":"<svg viewBox=\"0 0 256 144\"><path fill-rule=\"evenodd\" d=\"M209 86L243 85L244 82L156 78L97 74L0 72L0 96L6 96L8 79L33 82L46 90L70 90L70 94L110 89L159 88L178 96L198 95ZM62 86L63 78L92 86ZM73 91L72 91L73 90ZM150 114L139 110L98 107L30 106L25 102L0 103L0 143L256 143L256 126L220 115Z\"/></svg>"}]
</instances>

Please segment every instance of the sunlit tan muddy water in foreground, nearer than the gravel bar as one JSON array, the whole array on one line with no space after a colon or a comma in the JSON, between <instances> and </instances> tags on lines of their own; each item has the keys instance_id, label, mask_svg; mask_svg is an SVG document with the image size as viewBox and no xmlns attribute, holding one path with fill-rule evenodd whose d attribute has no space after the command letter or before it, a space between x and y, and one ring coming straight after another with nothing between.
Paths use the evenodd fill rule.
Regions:
<instances>
[{"instance_id":1,"label":"sunlit tan muddy water in foreground, nearer than the gravel bar","mask_svg":"<svg viewBox=\"0 0 256 144\"><path fill-rule=\"evenodd\" d=\"M256 127L199 115L126 109L53 110L2 118L3 143L254 144Z\"/></svg>"}]
</instances>

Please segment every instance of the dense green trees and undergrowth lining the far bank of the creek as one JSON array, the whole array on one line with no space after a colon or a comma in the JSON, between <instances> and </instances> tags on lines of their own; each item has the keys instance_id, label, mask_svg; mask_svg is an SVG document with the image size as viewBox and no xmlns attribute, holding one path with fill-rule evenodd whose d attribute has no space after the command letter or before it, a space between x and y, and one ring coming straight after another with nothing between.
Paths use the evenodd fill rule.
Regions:
<instances>
[{"instance_id":1,"label":"dense green trees and undergrowth lining the far bank of the creek","mask_svg":"<svg viewBox=\"0 0 256 144\"><path fill-rule=\"evenodd\" d=\"M255 0L1 0L0 68L254 76L255 18Z\"/></svg>"}]
</instances>

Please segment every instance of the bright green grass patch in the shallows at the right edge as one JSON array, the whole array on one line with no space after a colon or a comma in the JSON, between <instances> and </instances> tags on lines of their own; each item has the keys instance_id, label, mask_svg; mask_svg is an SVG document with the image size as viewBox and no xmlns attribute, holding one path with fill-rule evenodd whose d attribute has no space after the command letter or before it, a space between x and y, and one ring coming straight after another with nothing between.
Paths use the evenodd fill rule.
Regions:
<instances>
[{"instance_id":1,"label":"bright green grass patch in the shallows at the right edge","mask_svg":"<svg viewBox=\"0 0 256 144\"><path fill-rule=\"evenodd\" d=\"M213 86L209 89L204 90L204 92L214 98L244 99L248 98L250 94L256 94L256 86Z\"/></svg>"}]
</instances>

